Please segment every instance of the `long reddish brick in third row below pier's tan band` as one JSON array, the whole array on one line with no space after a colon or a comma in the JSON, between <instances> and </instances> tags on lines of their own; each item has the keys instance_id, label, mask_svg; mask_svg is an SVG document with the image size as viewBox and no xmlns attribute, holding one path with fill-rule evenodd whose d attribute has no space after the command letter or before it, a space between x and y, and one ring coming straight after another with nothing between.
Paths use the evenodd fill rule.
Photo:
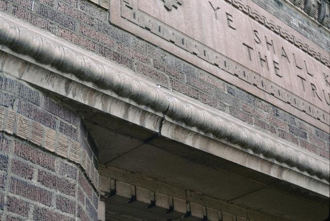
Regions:
<instances>
[{"instance_id":1,"label":"long reddish brick in third row below pier's tan band","mask_svg":"<svg viewBox=\"0 0 330 221\"><path fill-rule=\"evenodd\" d=\"M10 191L44 205L51 205L51 193L22 180L12 178Z\"/></svg>"}]
</instances>

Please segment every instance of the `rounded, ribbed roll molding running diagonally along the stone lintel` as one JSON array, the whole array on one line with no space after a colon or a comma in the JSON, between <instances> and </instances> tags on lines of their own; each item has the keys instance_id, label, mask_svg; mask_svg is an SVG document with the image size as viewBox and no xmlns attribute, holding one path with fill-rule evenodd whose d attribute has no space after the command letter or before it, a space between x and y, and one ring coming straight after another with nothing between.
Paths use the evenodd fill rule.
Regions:
<instances>
[{"instance_id":1,"label":"rounded, ribbed roll molding running diagonally along the stone lintel","mask_svg":"<svg viewBox=\"0 0 330 221\"><path fill-rule=\"evenodd\" d=\"M184 123L186 126L198 128L203 133L213 134L238 144L247 151L262 154L266 158L285 163L288 167L296 167L302 172L316 175L329 182L329 162L316 155L297 153L299 147L281 144L276 138L264 133L257 133L247 124L236 124L224 114L214 114L197 105L182 102L174 95L149 84L134 79L113 66L91 59L90 56L61 44L62 40L46 38L33 28L23 28L18 21L0 15L0 44L2 50L20 54L23 58L33 58L50 70L72 74L77 78L94 83L99 88L111 90L115 94L132 99L139 105L147 106L157 112ZM40 31L39 31L40 32ZM63 41L64 42L64 41ZM8 49L9 48L9 49ZM293 144L292 144L293 145Z\"/></svg>"}]
</instances>

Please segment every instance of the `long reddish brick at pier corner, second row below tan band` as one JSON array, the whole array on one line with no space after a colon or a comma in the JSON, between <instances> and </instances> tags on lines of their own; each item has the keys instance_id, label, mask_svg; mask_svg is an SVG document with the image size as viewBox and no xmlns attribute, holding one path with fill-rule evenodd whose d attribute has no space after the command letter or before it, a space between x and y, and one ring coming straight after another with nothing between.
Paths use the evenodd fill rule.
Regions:
<instances>
[{"instance_id":1,"label":"long reddish brick at pier corner, second row below tan band","mask_svg":"<svg viewBox=\"0 0 330 221\"><path fill-rule=\"evenodd\" d=\"M75 184L59 176L45 171L38 171L38 182L50 189L58 190L69 196L75 196Z\"/></svg>"}]
</instances>

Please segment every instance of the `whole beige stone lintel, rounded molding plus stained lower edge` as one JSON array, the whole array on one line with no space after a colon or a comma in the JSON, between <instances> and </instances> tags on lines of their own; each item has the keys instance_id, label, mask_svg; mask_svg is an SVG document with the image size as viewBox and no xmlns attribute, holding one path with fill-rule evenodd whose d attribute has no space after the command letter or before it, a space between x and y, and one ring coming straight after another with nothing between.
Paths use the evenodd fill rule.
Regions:
<instances>
[{"instance_id":1,"label":"whole beige stone lintel, rounded molding plus stained lower edge","mask_svg":"<svg viewBox=\"0 0 330 221\"><path fill-rule=\"evenodd\" d=\"M246 158L253 156L272 163L274 168L284 168L290 182L329 197L329 161L325 158L279 140L224 112L138 78L131 70L16 18L5 14L0 14L0 18L0 50L40 67L22 74L16 69L19 67L13 66L9 74L135 124L143 123L144 127L153 131L159 131L155 121L165 119L168 124L192 131L203 139L230 144L233 150L240 151ZM79 85L81 90L94 91L93 97L85 98L79 94L82 91L68 90L64 85L68 79L71 84ZM111 101L110 108L104 107L103 100ZM124 115L124 109L132 111L132 114ZM142 123L134 116L141 112L147 113ZM179 132L176 131L175 136L180 137ZM164 135L174 139L170 129ZM181 142L189 144L184 139ZM235 156L221 157L235 162ZM247 167L250 165L250 162L241 163L246 163L244 166ZM253 169L264 173L262 168ZM290 177L298 178L290 180Z\"/></svg>"}]
</instances>

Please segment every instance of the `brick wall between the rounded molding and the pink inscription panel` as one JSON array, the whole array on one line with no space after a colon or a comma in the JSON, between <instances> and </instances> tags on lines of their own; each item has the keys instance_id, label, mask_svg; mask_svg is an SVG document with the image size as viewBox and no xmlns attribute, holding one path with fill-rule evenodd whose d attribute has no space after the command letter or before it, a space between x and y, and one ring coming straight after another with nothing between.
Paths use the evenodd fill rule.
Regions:
<instances>
[{"instance_id":1,"label":"brick wall between the rounded molding and the pink inscription panel","mask_svg":"<svg viewBox=\"0 0 330 221\"><path fill-rule=\"evenodd\" d=\"M278 2L278 1L276 1ZM261 6L268 11L269 4ZM330 135L263 100L182 61L108 22L106 9L88 0L0 0L0 10L132 69L155 83L197 99L288 142L329 158ZM286 16L299 18L297 13ZM274 14L274 12L273 12ZM281 17L281 16L280 16ZM284 19L284 22L288 23ZM290 25L290 24L289 24ZM299 27L305 27L299 23ZM307 26L305 27L307 28ZM304 28L301 28L304 30ZM308 38L324 46L316 32ZM3 102L10 104L10 98ZM68 129L69 130L69 129ZM73 138L73 137L71 137Z\"/></svg>"}]
</instances>

